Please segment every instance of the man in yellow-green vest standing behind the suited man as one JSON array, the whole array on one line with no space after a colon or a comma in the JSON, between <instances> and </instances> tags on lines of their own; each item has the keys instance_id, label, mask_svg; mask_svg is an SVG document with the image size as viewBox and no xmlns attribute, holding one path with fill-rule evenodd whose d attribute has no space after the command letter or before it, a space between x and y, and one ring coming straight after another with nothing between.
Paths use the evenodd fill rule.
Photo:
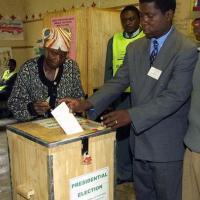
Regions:
<instances>
[{"instance_id":1,"label":"man in yellow-green vest standing behind the suited man","mask_svg":"<svg viewBox=\"0 0 200 200\"><path fill-rule=\"evenodd\" d=\"M144 37L140 28L140 12L133 6L126 6L120 13L123 32L115 33L108 41L104 82L112 79L123 63L129 43ZM112 104L112 109L127 109L131 106L130 87ZM132 157L129 146L130 125L116 130L116 181L123 183L132 179Z\"/></svg>"}]
</instances>

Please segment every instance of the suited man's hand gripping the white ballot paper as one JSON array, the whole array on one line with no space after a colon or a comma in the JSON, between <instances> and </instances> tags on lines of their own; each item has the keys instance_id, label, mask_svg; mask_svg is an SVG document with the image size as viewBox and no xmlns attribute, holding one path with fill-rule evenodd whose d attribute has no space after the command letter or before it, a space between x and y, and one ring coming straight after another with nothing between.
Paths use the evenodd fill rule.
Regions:
<instances>
[{"instance_id":1,"label":"suited man's hand gripping the white ballot paper","mask_svg":"<svg viewBox=\"0 0 200 200\"><path fill-rule=\"evenodd\" d=\"M63 98L58 100L58 104L65 102L72 112L82 113L92 108L92 104L87 100Z\"/></svg>"}]
</instances>

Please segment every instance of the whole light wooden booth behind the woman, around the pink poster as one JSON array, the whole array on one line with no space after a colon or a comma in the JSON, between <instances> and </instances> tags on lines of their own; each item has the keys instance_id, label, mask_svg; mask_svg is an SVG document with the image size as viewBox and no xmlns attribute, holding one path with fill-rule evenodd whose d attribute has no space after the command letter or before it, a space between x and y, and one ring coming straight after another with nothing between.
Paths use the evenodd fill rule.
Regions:
<instances>
[{"instance_id":1,"label":"whole light wooden booth behind the woman, around the pink poster","mask_svg":"<svg viewBox=\"0 0 200 200\"><path fill-rule=\"evenodd\" d=\"M120 11L114 9L80 8L66 12L47 13L44 27L53 17L76 16L77 62L86 94L103 84L107 42L115 32L121 31Z\"/></svg>"}]
</instances>

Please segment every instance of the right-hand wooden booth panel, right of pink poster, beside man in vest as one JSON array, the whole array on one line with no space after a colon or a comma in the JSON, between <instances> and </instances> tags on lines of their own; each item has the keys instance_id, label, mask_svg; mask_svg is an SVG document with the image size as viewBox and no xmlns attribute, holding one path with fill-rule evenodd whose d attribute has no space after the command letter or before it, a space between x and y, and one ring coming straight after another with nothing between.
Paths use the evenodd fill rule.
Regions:
<instances>
[{"instance_id":1,"label":"right-hand wooden booth panel, right of pink poster, beside man in vest","mask_svg":"<svg viewBox=\"0 0 200 200\"><path fill-rule=\"evenodd\" d=\"M108 40L122 30L120 11L90 8L88 12L88 93L104 82Z\"/></svg>"}]
</instances>

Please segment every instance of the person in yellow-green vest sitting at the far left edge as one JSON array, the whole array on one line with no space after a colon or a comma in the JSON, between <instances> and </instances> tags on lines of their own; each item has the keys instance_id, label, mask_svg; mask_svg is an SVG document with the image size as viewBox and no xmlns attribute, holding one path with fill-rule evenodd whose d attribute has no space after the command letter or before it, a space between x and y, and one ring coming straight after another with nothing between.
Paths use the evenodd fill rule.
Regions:
<instances>
[{"instance_id":1,"label":"person in yellow-green vest sitting at the far left edge","mask_svg":"<svg viewBox=\"0 0 200 200\"><path fill-rule=\"evenodd\" d=\"M16 60L8 60L9 69L5 70L0 80L0 101L7 101L17 77Z\"/></svg>"}]
</instances>

